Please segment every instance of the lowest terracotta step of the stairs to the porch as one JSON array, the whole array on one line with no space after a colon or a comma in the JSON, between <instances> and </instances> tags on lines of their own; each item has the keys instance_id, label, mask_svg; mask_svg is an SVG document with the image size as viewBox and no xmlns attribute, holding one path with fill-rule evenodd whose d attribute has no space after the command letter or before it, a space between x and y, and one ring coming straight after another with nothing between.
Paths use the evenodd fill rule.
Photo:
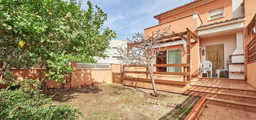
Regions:
<instances>
[{"instance_id":1,"label":"lowest terracotta step of the stairs to the porch","mask_svg":"<svg viewBox=\"0 0 256 120\"><path fill-rule=\"evenodd\" d=\"M241 102L241 101L232 101L232 100L207 97L207 104L215 104L215 105L219 105L219 106L230 107L232 109L241 109L241 110L245 110L245 111L256 112L256 104L245 103L245 102Z\"/></svg>"}]
</instances>

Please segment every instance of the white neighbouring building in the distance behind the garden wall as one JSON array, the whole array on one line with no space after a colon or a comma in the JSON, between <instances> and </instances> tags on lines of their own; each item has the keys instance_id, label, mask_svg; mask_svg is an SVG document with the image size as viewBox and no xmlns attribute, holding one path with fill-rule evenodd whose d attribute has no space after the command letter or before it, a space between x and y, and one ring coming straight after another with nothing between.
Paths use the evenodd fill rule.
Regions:
<instances>
[{"instance_id":1,"label":"white neighbouring building in the distance behind the garden wall","mask_svg":"<svg viewBox=\"0 0 256 120\"><path fill-rule=\"evenodd\" d=\"M121 64L122 57L118 54L118 49L126 48L127 44L126 41L123 40L111 40L109 49L105 51L105 58L97 57L97 63L104 63L104 64Z\"/></svg>"}]
</instances>

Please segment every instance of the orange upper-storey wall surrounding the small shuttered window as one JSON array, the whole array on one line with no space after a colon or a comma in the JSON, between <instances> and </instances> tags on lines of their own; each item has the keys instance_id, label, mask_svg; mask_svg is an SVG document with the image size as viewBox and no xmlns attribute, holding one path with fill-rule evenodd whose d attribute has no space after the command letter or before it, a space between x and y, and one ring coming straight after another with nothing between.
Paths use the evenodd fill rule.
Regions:
<instances>
[{"instance_id":1,"label":"orange upper-storey wall surrounding the small shuttered window","mask_svg":"<svg viewBox=\"0 0 256 120\"><path fill-rule=\"evenodd\" d=\"M220 19L209 20L209 11L213 9L218 9L224 6L224 17ZM214 0L207 4L203 4L202 6L196 6L193 9L189 9L186 11L182 11L178 14L172 14L166 18L160 19L159 24L165 23L167 21L171 21L173 19L179 18L181 16L186 16L188 14L199 13L200 18L204 24L212 24L217 21L224 21L227 19L232 19L232 0ZM189 22L188 22L189 23Z\"/></svg>"}]
</instances>

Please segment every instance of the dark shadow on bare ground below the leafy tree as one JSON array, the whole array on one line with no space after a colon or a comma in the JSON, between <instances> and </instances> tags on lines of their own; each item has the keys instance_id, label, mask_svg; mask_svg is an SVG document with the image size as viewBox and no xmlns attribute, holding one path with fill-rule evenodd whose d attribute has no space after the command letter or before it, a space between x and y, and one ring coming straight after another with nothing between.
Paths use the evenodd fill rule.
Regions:
<instances>
[{"instance_id":1,"label":"dark shadow on bare ground below the leafy tree","mask_svg":"<svg viewBox=\"0 0 256 120\"><path fill-rule=\"evenodd\" d=\"M103 91L99 86L85 86L82 88L71 89L49 89L48 97L52 97L53 101L68 102L76 99L80 94L98 94Z\"/></svg>"}]
</instances>

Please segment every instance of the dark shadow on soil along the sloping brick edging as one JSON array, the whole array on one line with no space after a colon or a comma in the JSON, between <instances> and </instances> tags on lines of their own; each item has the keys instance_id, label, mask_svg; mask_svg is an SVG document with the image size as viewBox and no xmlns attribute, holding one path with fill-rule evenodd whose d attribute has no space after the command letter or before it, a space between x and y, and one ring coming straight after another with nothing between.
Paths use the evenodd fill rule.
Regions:
<instances>
[{"instance_id":1,"label":"dark shadow on soil along the sloping brick edging","mask_svg":"<svg viewBox=\"0 0 256 120\"><path fill-rule=\"evenodd\" d=\"M193 109L194 105L198 101L199 97L189 96L186 98L182 103L180 108L174 108L169 111L167 114L162 116L159 120L166 120L166 119L185 119L186 115L189 114L191 109Z\"/></svg>"}]
</instances>

